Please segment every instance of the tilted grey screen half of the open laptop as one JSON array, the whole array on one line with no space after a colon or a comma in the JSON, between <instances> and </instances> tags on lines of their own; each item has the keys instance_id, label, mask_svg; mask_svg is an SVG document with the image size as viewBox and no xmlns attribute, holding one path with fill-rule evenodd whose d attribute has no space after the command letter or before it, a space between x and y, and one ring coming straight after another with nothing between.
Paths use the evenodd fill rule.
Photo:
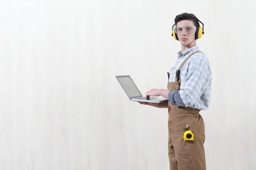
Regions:
<instances>
[{"instance_id":1,"label":"tilted grey screen half of the open laptop","mask_svg":"<svg viewBox=\"0 0 256 170\"><path fill-rule=\"evenodd\" d=\"M142 97L142 94L132 81L130 76L116 76L119 83L121 84L122 88L125 90L126 94L129 96L130 99Z\"/></svg>"}]
</instances>

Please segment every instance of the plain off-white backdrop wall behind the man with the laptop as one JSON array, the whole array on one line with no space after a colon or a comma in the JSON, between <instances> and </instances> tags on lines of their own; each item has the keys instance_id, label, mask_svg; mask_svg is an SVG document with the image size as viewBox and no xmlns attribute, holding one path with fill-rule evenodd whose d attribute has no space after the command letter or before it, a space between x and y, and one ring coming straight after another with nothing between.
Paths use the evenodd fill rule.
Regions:
<instances>
[{"instance_id":1,"label":"plain off-white backdrop wall behind the man with the laptop","mask_svg":"<svg viewBox=\"0 0 256 170\"><path fill-rule=\"evenodd\" d=\"M177 14L195 14L212 68L207 170L256 169L250 0L1 0L0 169L169 170L168 113L128 99L167 88Z\"/></svg>"}]
</instances>

